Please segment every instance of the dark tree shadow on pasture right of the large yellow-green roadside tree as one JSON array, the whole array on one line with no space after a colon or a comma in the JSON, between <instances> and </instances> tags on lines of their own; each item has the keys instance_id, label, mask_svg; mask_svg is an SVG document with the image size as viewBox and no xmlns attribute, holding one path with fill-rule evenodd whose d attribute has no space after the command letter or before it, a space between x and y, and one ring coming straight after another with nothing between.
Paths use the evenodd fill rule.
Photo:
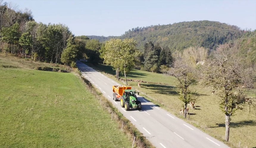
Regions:
<instances>
[{"instance_id":1,"label":"dark tree shadow on pasture right of the large yellow-green roadside tree","mask_svg":"<svg viewBox=\"0 0 256 148\"><path fill-rule=\"evenodd\" d=\"M154 94L171 94L171 95L179 95L179 92L177 92L175 86L167 86L167 85L159 85L159 84L147 84L143 83L143 86L148 87L149 89L152 89Z\"/></svg>"}]
</instances>

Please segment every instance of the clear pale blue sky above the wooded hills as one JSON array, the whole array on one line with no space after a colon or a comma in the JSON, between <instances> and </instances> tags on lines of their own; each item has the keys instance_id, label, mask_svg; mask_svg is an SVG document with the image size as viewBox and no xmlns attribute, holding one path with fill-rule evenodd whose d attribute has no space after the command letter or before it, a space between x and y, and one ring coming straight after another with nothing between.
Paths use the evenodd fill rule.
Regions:
<instances>
[{"instance_id":1,"label":"clear pale blue sky above the wooded hills","mask_svg":"<svg viewBox=\"0 0 256 148\"><path fill-rule=\"evenodd\" d=\"M73 34L120 36L129 29L210 20L256 29L256 0L4 0L35 21L62 23Z\"/></svg>"}]
</instances>

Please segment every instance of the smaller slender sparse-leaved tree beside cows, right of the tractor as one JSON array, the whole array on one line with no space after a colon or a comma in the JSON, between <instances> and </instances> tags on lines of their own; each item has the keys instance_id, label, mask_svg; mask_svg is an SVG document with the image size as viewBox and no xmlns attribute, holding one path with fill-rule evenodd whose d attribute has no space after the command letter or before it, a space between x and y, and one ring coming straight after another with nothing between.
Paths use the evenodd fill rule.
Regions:
<instances>
[{"instance_id":1,"label":"smaller slender sparse-leaved tree beside cows, right of the tractor","mask_svg":"<svg viewBox=\"0 0 256 148\"><path fill-rule=\"evenodd\" d=\"M187 104L190 101L194 101L195 91L192 91L189 86L196 83L196 75L194 69L185 62L184 56L180 52L176 52L175 61L170 70L167 72L168 75L177 78L177 87L179 88L179 99L184 102L186 118Z\"/></svg>"}]
</instances>

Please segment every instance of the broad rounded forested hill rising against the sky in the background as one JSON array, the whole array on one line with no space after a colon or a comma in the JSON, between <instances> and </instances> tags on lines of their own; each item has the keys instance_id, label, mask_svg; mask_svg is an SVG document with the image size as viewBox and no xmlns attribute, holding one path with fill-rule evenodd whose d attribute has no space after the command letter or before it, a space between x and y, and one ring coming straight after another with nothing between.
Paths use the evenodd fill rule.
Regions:
<instances>
[{"instance_id":1,"label":"broad rounded forested hill rising against the sky in the background","mask_svg":"<svg viewBox=\"0 0 256 148\"><path fill-rule=\"evenodd\" d=\"M190 46L215 49L217 45L235 40L242 34L243 30L237 26L203 20L132 28L121 38L134 38L139 49L143 49L144 44L149 41L171 50L182 50Z\"/></svg>"}]
</instances>

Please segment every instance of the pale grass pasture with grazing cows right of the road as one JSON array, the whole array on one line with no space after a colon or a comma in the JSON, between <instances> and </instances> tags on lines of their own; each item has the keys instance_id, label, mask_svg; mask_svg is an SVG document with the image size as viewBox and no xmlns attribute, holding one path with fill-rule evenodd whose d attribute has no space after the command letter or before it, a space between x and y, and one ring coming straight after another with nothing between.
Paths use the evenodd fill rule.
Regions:
<instances>
[{"instance_id":1,"label":"pale grass pasture with grazing cows right of the road","mask_svg":"<svg viewBox=\"0 0 256 148\"><path fill-rule=\"evenodd\" d=\"M104 65L101 65L101 67L104 67ZM94 65L94 68L99 69L100 67ZM104 69L106 68L104 67ZM104 72L104 69L100 71ZM112 67L107 70L107 73L110 73L110 70L112 70ZM114 78L114 76L111 77ZM121 78L124 79L124 76L121 75ZM182 107L182 101L178 99L179 90L175 87L174 77L147 71L132 70L127 74L127 79L154 83L141 83L141 88L138 88L138 82L128 82L129 86L140 91L140 95L146 99L158 104L177 117L184 119L179 113ZM186 122L224 141L225 116L219 108L218 97L211 93L212 89L209 87L192 86L191 89L197 91L196 110L192 110L189 107L190 116L189 120L186 119ZM248 94L255 97L256 90L251 90ZM244 106L244 110L237 110L231 119L230 139L227 144L231 147L238 147L239 142L241 142L240 147L256 147L255 108L251 108L251 112L249 112L249 107Z\"/></svg>"}]
</instances>

